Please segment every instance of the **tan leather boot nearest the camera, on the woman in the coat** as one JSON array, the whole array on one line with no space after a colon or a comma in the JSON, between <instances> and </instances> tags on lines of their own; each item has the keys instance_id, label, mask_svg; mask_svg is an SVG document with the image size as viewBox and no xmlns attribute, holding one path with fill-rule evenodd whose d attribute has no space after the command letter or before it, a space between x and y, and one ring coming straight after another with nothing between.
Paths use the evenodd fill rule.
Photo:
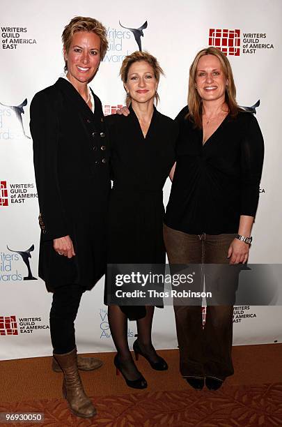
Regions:
<instances>
[{"instance_id":1,"label":"tan leather boot nearest the camera, on the woman in the coat","mask_svg":"<svg viewBox=\"0 0 282 427\"><path fill-rule=\"evenodd\" d=\"M77 349L74 348L65 354L53 354L53 356L63 370L63 396L68 400L70 410L77 417L93 417L96 410L84 392L77 369Z\"/></svg>"}]
</instances>

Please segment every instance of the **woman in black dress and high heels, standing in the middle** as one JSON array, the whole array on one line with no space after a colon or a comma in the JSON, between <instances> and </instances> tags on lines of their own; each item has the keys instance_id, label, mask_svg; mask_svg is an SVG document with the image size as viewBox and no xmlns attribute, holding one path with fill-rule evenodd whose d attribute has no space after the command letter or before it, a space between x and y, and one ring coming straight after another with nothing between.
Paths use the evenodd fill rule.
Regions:
<instances>
[{"instance_id":1,"label":"woman in black dress and high heels, standing in the middle","mask_svg":"<svg viewBox=\"0 0 282 427\"><path fill-rule=\"evenodd\" d=\"M175 160L178 125L160 114L154 99L162 69L147 52L127 56L120 69L127 91L128 117L107 117L113 188L109 208L109 264L164 264L162 188ZM154 306L109 306L109 326L118 353L116 367L129 387L145 388L127 342L127 318L137 320L135 354L152 368L167 369L151 341Z\"/></svg>"}]
</instances>

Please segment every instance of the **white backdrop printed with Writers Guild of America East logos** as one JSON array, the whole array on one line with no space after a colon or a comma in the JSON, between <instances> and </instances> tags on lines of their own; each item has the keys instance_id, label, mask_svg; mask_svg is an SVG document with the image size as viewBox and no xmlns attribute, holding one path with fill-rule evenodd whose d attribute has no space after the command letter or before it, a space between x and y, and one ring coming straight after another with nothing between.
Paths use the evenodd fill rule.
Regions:
<instances>
[{"instance_id":1,"label":"white backdrop printed with Writers Guild of America East logos","mask_svg":"<svg viewBox=\"0 0 282 427\"><path fill-rule=\"evenodd\" d=\"M196 52L207 45L226 52L238 103L258 105L256 117L265 138L249 261L281 263L281 0L6 1L0 21L0 359L52 353L52 294L47 294L37 272L40 229L29 106L34 93L53 84L63 72L61 33L76 15L95 17L107 27L109 50L91 84L104 114L123 105L120 65L126 54L138 49L134 34L124 27L138 29L148 22L142 49L154 54L164 68L159 110L170 117L186 103L189 66ZM167 182L165 203L169 190ZM74 203L79 202L80 195L74 194ZM76 322L79 352L113 350L102 300L103 280L81 301ZM281 307L237 307L234 344L281 342L281 324ZM135 332L135 322L130 322L130 343ZM177 346L171 307L156 310L153 336L157 348Z\"/></svg>"}]
</instances>

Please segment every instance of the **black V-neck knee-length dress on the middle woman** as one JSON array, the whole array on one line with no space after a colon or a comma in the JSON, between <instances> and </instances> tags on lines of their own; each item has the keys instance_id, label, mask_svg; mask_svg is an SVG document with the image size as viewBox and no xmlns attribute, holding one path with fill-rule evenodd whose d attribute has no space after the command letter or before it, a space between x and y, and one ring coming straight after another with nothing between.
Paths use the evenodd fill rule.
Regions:
<instances>
[{"instance_id":1,"label":"black V-neck knee-length dress on the middle woman","mask_svg":"<svg viewBox=\"0 0 282 427\"><path fill-rule=\"evenodd\" d=\"M130 114L106 117L111 179L109 264L162 264L164 205L162 188L175 161L178 123L155 108L146 137ZM107 283L107 280L106 280ZM122 307L130 319L146 314L142 306Z\"/></svg>"}]
</instances>

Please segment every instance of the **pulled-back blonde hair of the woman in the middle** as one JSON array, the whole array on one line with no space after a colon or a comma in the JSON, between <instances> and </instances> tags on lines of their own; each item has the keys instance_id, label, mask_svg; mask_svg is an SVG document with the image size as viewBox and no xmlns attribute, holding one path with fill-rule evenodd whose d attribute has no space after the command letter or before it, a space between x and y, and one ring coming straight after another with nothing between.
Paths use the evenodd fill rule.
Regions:
<instances>
[{"instance_id":1,"label":"pulled-back blonde hair of the woman in the middle","mask_svg":"<svg viewBox=\"0 0 282 427\"><path fill-rule=\"evenodd\" d=\"M127 57L123 59L123 63L121 64L120 78L123 81L123 84L127 82L128 72L130 70L130 66L132 66L132 63L139 62L139 61L145 61L152 67L154 71L155 79L159 83L159 77L161 76L161 74L164 75L164 71L159 65L157 58L153 57L151 54L149 54L149 52L146 52L146 51L140 52L139 50L136 50L136 52L133 52L132 54L127 55ZM159 101L159 95L157 92L155 93L155 100L157 104ZM131 103L131 98L128 95L126 98L127 107L130 105L130 103Z\"/></svg>"}]
</instances>

